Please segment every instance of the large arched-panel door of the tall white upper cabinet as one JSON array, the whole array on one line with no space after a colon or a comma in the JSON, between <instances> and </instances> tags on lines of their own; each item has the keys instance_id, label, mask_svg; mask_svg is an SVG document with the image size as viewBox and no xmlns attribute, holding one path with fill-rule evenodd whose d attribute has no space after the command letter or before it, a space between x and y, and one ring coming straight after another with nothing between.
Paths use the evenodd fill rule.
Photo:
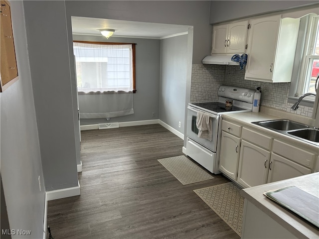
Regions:
<instances>
[{"instance_id":1,"label":"large arched-panel door of the tall white upper cabinet","mask_svg":"<svg viewBox=\"0 0 319 239\"><path fill-rule=\"evenodd\" d=\"M250 20L245 79L272 81L281 15Z\"/></svg>"}]
</instances>

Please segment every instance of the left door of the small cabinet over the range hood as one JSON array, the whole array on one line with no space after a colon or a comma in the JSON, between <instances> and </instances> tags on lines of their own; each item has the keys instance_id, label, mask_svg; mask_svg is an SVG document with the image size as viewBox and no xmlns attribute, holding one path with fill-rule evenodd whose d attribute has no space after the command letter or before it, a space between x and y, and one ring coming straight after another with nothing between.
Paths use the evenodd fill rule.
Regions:
<instances>
[{"instance_id":1,"label":"left door of the small cabinet over the range hood","mask_svg":"<svg viewBox=\"0 0 319 239\"><path fill-rule=\"evenodd\" d=\"M211 53L226 53L228 24L213 26Z\"/></svg>"}]
</instances>

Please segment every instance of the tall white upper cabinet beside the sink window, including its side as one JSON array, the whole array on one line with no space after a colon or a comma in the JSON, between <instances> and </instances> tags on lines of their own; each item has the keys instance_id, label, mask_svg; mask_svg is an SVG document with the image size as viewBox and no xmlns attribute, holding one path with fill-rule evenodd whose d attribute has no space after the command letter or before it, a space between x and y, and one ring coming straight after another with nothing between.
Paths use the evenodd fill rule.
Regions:
<instances>
[{"instance_id":1,"label":"tall white upper cabinet beside the sink window, including its side","mask_svg":"<svg viewBox=\"0 0 319 239\"><path fill-rule=\"evenodd\" d=\"M245 79L290 82L300 20L281 15L249 21Z\"/></svg>"}]
</instances>

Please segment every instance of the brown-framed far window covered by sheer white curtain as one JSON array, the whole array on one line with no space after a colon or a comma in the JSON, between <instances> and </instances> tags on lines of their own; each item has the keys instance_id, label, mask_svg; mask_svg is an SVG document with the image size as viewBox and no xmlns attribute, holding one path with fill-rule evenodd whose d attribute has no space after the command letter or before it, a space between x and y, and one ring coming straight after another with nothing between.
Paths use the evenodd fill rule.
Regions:
<instances>
[{"instance_id":1,"label":"brown-framed far window covered by sheer white curtain","mask_svg":"<svg viewBox=\"0 0 319 239\"><path fill-rule=\"evenodd\" d=\"M78 92L134 92L135 44L74 41Z\"/></svg>"}]
</instances>

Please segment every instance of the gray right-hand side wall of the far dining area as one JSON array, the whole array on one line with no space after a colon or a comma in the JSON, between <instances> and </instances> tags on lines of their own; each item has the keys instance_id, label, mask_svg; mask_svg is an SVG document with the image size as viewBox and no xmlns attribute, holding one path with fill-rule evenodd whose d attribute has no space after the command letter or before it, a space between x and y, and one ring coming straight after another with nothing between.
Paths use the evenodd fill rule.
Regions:
<instances>
[{"instance_id":1,"label":"gray right-hand side wall of the far dining area","mask_svg":"<svg viewBox=\"0 0 319 239\"><path fill-rule=\"evenodd\" d=\"M185 122L187 38L181 35L160 42L160 119L181 133Z\"/></svg>"}]
</instances>

